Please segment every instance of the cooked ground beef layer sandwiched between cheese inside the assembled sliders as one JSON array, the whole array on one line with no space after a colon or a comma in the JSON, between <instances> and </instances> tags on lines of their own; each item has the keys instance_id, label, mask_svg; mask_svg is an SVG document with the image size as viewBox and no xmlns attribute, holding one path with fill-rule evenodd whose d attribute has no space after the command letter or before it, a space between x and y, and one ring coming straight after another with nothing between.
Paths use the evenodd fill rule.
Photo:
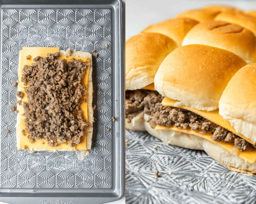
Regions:
<instances>
[{"instance_id":1,"label":"cooked ground beef layer sandwiched between cheese inside the assembled sliders","mask_svg":"<svg viewBox=\"0 0 256 204\"><path fill-rule=\"evenodd\" d=\"M141 93L141 90L136 90L133 93ZM133 93L129 95L132 96L134 95ZM150 116L147 122L153 122L157 125L167 127L174 125L175 127L182 127L185 130L201 130L202 134L211 133L213 141L231 142L235 147L238 147L240 151L246 150L251 145L246 140L194 112L177 107L163 106L162 100L164 97L156 91L147 91L143 100L143 96L140 95L140 97L141 98L133 104L134 106L138 104L140 110L142 110L142 106L144 107L144 113ZM133 109L137 110L136 107ZM132 111L129 113L131 112Z\"/></svg>"}]
</instances>

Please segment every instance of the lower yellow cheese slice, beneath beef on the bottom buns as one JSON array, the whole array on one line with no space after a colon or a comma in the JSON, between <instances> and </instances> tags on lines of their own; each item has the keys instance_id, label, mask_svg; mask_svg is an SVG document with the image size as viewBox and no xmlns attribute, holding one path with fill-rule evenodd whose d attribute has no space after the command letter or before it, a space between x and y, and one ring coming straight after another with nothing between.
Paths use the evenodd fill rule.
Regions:
<instances>
[{"instance_id":1,"label":"lower yellow cheese slice, beneath beef on the bottom buns","mask_svg":"<svg viewBox=\"0 0 256 204\"><path fill-rule=\"evenodd\" d=\"M156 130L172 130L172 131L178 131L178 132L183 132L183 133L187 133L187 134L191 134L191 135L196 135L199 137L202 137L204 139L207 139L217 145L219 145L220 147L222 147L223 149L229 151L230 153L232 153L232 148L234 147L234 145L232 143L226 143L224 141L222 142L218 142L218 141L213 141L210 137L212 136L211 133L206 133L204 135L201 135L199 132L200 130L184 130L182 127L164 127L164 126L160 126L157 125L155 127ZM238 151L238 157L242 158L245 161L248 161L249 163L254 163L256 161L256 152L252 149L252 147L248 148L246 151Z\"/></svg>"}]
</instances>

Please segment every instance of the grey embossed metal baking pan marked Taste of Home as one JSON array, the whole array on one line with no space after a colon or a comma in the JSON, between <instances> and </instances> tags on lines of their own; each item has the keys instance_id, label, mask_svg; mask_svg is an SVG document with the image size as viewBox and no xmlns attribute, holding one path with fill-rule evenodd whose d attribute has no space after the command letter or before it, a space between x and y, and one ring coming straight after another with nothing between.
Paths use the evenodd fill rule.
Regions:
<instances>
[{"instance_id":1,"label":"grey embossed metal baking pan marked Taste of Home","mask_svg":"<svg viewBox=\"0 0 256 204\"><path fill-rule=\"evenodd\" d=\"M50 3L49 3L50 2ZM65 2L65 1L64 1ZM69 5L68 5L69 4ZM105 203L124 193L123 7L121 0L1 1L0 201ZM104 48L108 44L108 48ZM60 47L92 53L96 105L89 156L77 152L16 149L18 53L22 47ZM96 65L95 65L96 64ZM104 97L103 97L104 95ZM100 107L100 110L97 108ZM112 122L112 116L116 121ZM106 131L109 128L110 131ZM10 131L6 133L7 129Z\"/></svg>"}]
</instances>

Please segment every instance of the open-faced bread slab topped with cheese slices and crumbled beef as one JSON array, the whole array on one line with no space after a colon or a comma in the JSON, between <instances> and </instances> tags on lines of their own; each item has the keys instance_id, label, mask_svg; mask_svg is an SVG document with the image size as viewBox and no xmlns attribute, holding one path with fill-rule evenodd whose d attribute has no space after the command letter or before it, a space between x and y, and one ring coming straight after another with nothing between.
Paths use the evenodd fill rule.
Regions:
<instances>
[{"instance_id":1,"label":"open-faced bread slab topped with cheese slices and crumbled beef","mask_svg":"<svg viewBox=\"0 0 256 204\"><path fill-rule=\"evenodd\" d=\"M92 143L92 56L59 47L19 52L17 149L89 154Z\"/></svg>"}]
</instances>

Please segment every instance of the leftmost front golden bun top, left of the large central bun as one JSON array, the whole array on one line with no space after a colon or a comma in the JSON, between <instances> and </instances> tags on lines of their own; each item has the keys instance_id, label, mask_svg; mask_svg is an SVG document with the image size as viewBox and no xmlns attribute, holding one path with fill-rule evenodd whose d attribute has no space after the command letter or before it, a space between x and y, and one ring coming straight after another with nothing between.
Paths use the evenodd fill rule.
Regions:
<instances>
[{"instance_id":1,"label":"leftmost front golden bun top, left of the large central bun","mask_svg":"<svg viewBox=\"0 0 256 204\"><path fill-rule=\"evenodd\" d=\"M154 82L164 58L177 47L168 36L142 33L125 43L125 89L135 90Z\"/></svg>"}]
</instances>

